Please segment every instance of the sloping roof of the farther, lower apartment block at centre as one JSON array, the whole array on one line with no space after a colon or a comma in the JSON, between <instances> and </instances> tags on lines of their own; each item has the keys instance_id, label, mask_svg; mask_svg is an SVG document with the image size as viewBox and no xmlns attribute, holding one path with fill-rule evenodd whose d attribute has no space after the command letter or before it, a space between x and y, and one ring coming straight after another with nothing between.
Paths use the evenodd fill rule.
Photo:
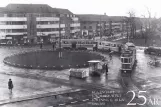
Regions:
<instances>
[{"instance_id":1,"label":"sloping roof of the farther, lower apartment block at centre","mask_svg":"<svg viewBox=\"0 0 161 107\"><path fill-rule=\"evenodd\" d=\"M96 14L77 14L80 21L109 21L107 15L96 15Z\"/></svg>"}]
</instances>

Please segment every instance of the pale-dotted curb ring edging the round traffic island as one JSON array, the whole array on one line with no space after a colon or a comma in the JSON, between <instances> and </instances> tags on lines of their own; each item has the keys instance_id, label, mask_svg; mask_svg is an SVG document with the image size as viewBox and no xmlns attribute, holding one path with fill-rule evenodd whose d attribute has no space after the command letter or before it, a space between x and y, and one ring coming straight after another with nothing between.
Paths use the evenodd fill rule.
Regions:
<instances>
[{"instance_id":1,"label":"pale-dotted curb ring edging the round traffic island","mask_svg":"<svg viewBox=\"0 0 161 107\"><path fill-rule=\"evenodd\" d=\"M14 67L18 67L18 68L26 68L26 69L45 69L45 70L63 70L63 69L69 69L69 68L86 68L88 67L88 63L84 63L84 64L75 64L75 65L60 65L60 66L48 66L48 65L45 65L45 66L40 66L40 65L22 65L22 64L19 64L19 63L11 63L9 60L9 58L13 57L13 56L18 56L18 55L23 55L23 54L27 54L27 53L32 53L32 52L53 52L52 49L43 49L43 50L31 50L31 51L24 51L24 52L20 52L20 53L17 53L17 54L12 54L10 56L7 56L4 58L3 60L3 63L5 63L6 65L9 65L9 66L14 66ZM87 52L87 53L92 53L92 54L96 54L97 56L100 56L101 59L103 59L104 57L96 52L92 52L92 51L82 51L82 50L76 50L76 51L67 51L65 50L66 52ZM101 60L100 59L100 60Z\"/></svg>"}]
</instances>

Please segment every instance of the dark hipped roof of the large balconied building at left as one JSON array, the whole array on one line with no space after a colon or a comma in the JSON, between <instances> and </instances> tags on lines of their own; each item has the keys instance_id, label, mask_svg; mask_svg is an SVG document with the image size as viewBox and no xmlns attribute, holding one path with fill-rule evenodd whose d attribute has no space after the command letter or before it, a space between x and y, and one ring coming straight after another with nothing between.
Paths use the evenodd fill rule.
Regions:
<instances>
[{"instance_id":1,"label":"dark hipped roof of the large balconied building at left","mask_svg":"<svg viewBox=\"0 0 161 107\"><path fill-rule=\"evenodd\" d=\"M8 4L6 7L0 7L0 12L73 14L68 9L52 8L47 4Z\"/></svg>"}]
</instances>

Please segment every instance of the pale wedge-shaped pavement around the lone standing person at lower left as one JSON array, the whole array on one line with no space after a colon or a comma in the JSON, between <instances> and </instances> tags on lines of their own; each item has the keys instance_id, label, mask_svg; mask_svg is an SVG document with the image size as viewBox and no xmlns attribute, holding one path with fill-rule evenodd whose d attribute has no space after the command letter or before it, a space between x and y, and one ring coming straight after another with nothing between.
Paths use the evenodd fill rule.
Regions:
<instances>
[{"instance_id":1,"label":"pale wedge-shaped pavement around the lone standing person at lower left","mask_svg":"<svg viewBox=\"0 0 161 107\"><path fill-rule=\"evenodd\" d=\"M14 85L12 93L8 90L9 78L12 79ZM52 84L41 80L0 74L0 105L73 91L79 91L79 89L72 89L67 86Z\"/></svg>"}]
</instances>

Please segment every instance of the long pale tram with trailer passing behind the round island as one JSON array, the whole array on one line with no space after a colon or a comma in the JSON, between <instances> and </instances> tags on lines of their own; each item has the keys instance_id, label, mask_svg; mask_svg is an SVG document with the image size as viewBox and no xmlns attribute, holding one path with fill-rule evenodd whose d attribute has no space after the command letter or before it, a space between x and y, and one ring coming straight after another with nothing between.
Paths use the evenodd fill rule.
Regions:
<instances>
[{"instance_id":1,"label":"long pale tram with trailer passing behind the round island","mask_svg":"<svg viewBox=\"0 0 161 107\"><path fill-rule=\"evenodd\" d=\"M98 50L108 51L109 49L113 52L121 52L122 43L110 42L93 39L62 39L62 48L93 48L96 46Z\"/></svg>"}]
</instances>

